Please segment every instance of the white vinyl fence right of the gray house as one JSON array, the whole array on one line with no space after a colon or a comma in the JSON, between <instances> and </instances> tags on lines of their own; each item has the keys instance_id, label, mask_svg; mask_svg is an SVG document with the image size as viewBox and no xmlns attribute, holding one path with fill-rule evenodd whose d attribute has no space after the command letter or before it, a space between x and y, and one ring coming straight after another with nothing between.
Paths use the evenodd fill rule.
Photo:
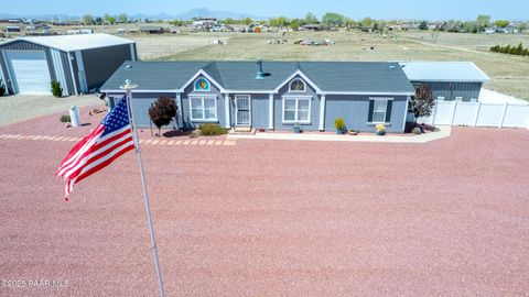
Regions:
<instances>
[{"instance_id":1,"label":"white vinyl fence right of the gray house","mask_svg":"<svg viewBox=\"0 0 529 297\"><path fill-rule=\"evenodd\" d=\"M438 101L418 123L529 129L529 105Z\"/></svg>"}]
</instances>

